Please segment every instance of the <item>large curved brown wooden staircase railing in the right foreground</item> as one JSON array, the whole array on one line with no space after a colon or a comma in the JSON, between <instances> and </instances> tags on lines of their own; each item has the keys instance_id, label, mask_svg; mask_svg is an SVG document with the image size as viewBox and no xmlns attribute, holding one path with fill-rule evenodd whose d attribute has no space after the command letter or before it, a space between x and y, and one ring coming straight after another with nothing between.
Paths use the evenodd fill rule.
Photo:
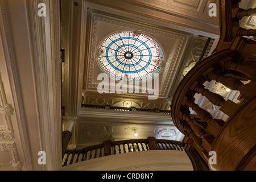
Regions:
<instances>
[{"instance_id":1,"label":"large curved brown wooden staircase railing in the right foreground","mask_svg":"<svg viewBox=\"0 0 256 182\"><path fill-rule=\"evenodd\" d=\"M220 2L220 42L213 55L195 65L180 82L171 114L175 126L191 138L209 169L251 170L256 159L256 42L242 36L256 36L256 32L239 27L239 19L255 13L255 9L248 13L239 8L239 1ZM240 92L241 104L205 89L205 82L212 80ZM196 93L220 106L228 120L213 118L197 105ZM190 109L197 115L192 115ZM210 151L216 152L217 163L208 163Z\"/></svg>"}]
</instances>

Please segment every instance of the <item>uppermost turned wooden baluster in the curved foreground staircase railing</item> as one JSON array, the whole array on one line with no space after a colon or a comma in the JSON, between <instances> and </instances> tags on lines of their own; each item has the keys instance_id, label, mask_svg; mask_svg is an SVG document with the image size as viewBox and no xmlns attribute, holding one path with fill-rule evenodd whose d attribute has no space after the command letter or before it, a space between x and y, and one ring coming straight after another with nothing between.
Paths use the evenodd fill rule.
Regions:
<instances>
[{"instance_id":1,"label":"uppermost turned wooden baluster in the curved foreground staircase railing","mask_svg":"<svg viewBox=\"0 0 256 182\"><path fill-rule=\"evenodd\" d=\"M244 75L249 76L251 78L256 78L256 67L253 67L252 65L240 64L230 60L225 62L224 68L232 69L236 72L243 73Z\"/></svg>"}]
</instances>

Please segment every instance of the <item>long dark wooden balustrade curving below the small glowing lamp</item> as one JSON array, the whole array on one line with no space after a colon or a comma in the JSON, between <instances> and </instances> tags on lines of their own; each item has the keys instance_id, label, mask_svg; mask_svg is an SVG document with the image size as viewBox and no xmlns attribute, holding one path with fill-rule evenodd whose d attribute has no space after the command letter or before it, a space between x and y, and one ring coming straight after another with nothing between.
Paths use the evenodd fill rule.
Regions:
<instances>
[{"instance_id":1,"label":"long dark wooden balustrade curving below the small glowing lamp","mask_svg":"<svg viewBox=\"0 0 256 182\"><path fill-rule=\"evenodd\" d=\"M84 147L81 150L65 150L63 166L68 166L85 160L101 158L103 156L124 154L127 152L147 150L184 151L183 147L184 142L155 139L154 137L148 137L147 139L121 140L115 142L106 140L101 144Z\"/></svg>"}]
</instances>

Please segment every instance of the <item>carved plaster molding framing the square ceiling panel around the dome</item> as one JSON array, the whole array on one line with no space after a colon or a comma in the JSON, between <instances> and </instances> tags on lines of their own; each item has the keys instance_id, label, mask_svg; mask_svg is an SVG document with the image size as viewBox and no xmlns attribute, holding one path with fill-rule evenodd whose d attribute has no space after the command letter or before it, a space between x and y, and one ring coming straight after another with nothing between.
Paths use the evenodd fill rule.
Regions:
<instances>
[{"instance_id":1,"label":"carved plaster molding framing the square ceiling panel around the dome","mask_svg":"<svg viewBox=\"0 0 256 182\"><path fill-rule=\"evenodd\" d=\"M178 34L176 32L170 32L170 31L164 31L160 30L157 28L149 28L146 26L141 26L140 24L135 24L135 23L127 23L123 20L118 20L118 19L110 19L107 16L101 17L97 14L94 14L94 19L93 19L93 26L92 26L92 31L91 31L91 44L90 44L90 60L94 61L89 61L89 66L88 66L88 82L87 82L87 87L88 89L92 90L97 90L97 84L93 84L92 82L92 77L93 77L93 68L97 64L96 60L96 52L97 52L97 45L96 45L96 32L97 32L97 23L98 21L105 22L105 23L111 23L114 25L118 26L123 26L126 27L127 29L130 30L139 30L142 32L150 32L158 35L164 35L168 36L170 38L175 38L177 43L174 46L174 49L172 49L172 52L170 55L168 55L166 61L166 66L163 68L164 69L164 74L163 74L163 83L162 86L159 89L159 96L166 96L167 94L167 89L168 86L170 85L170 80L172 76L174 75L175 69L177 67L177 63L179 62L181 52L183 51L183 45L185 44L185 40L187 36ZM110 88L109 88L110 91Z\"/></svg>"}]
</instances>

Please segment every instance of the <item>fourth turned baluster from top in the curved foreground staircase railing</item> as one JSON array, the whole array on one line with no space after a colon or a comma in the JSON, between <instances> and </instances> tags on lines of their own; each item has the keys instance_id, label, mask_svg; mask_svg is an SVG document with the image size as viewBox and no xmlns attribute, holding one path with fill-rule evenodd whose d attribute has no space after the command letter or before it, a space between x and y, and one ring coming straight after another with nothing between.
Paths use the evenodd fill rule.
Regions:
<instances>
[{"instance_id":1,"label":"fourth turned baluster from top in the curved foreground staircase railing","mask_svg":"<svg viewBox=\"0 0 256 182\"><path fill-rule=\"evenodd\" d=\"M195 98L191 97L191 98L187 99L185 104L188 107L191 107L191 109L197 113L197 115L199 116L199 118L202 121L209 123L207 130L210 131L210 133L213 134L214 137L216 137L218 132L220 132L220 130L222 129L222 126L224 125L225 122L218 120L218 119L214 120L212 115L210 113L208 113L208 111L202 109L199 105L195 104L194 101L195 101ZM193 123L193 122L191 122L191 123Z\"/></svg>"}]
</instances>

